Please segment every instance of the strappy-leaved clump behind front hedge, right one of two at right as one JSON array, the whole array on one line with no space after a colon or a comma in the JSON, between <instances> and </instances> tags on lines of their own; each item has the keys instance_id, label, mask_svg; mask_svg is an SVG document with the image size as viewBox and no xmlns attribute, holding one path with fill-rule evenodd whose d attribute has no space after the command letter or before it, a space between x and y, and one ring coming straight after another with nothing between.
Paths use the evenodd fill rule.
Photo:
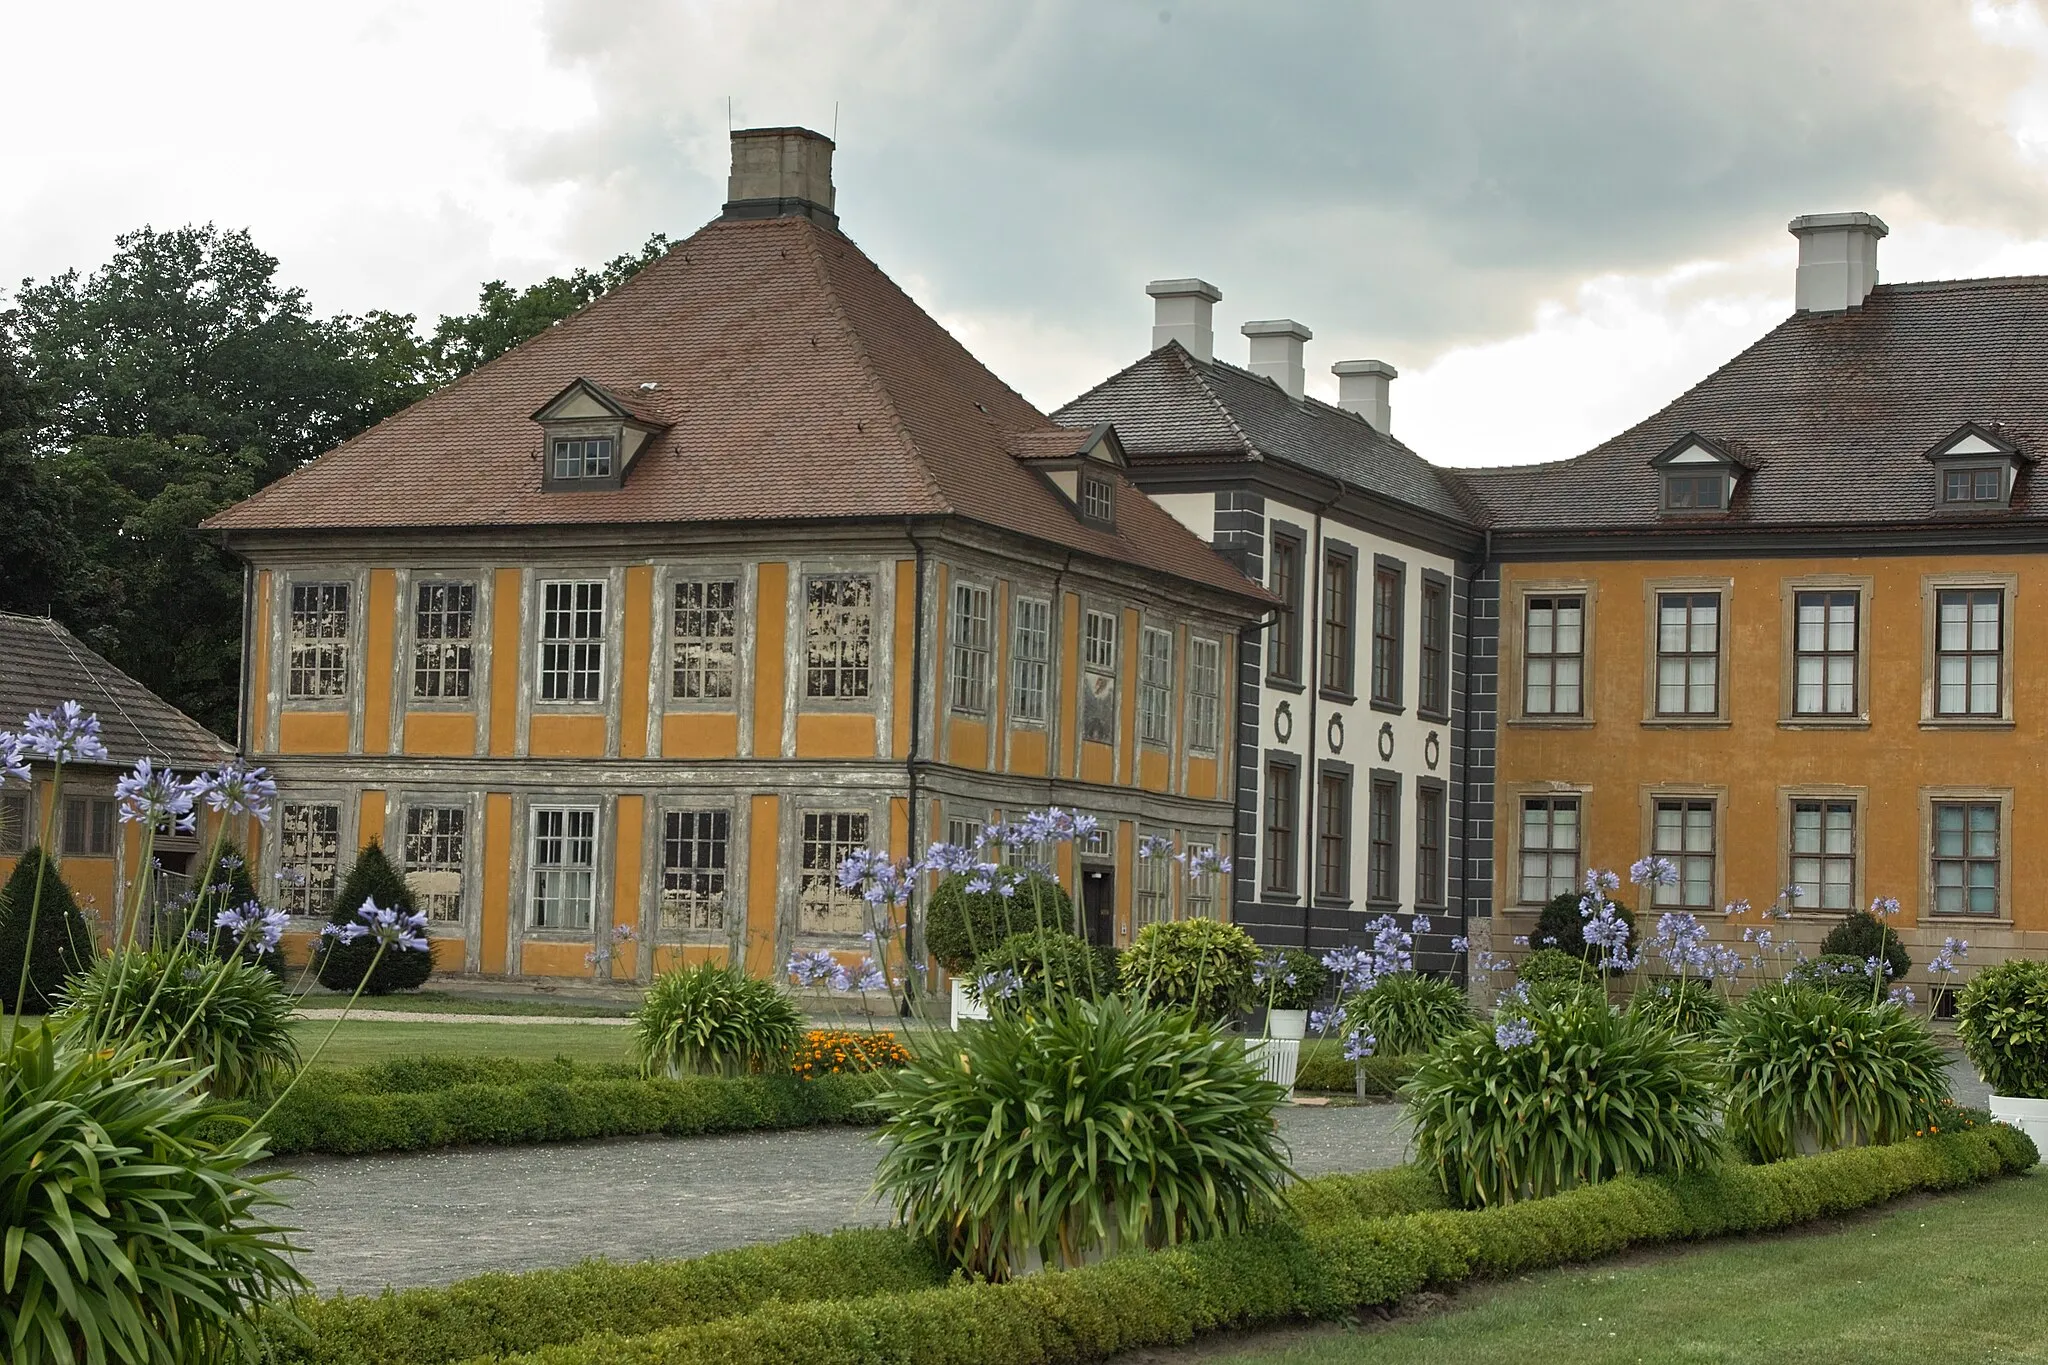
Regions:
<instances>
[{"instance_id":1,"label":"strappy-leaved clump behind front hedge, right one of two at right","mask_svg":"<svg viewBox=\"0 0 2048 1365\"><path fill-rule=\"evenodd\" d=\"M1759 1160L1898 1142L1948 1095L1948 1056L1925 1023L1802 984L1751 990L1722 1064L1729 1136Z\"/></svg>"}]
</instances>

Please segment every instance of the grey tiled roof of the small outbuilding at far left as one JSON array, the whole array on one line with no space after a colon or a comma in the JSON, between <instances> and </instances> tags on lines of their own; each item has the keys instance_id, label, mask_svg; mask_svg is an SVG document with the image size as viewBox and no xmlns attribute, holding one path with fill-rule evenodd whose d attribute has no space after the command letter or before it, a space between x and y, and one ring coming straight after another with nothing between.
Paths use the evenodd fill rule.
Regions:
<instances>
[{"instance_id":1,"label":"grey tiled roof of the small outbuilding at far left","mask_svg":"<svg viewBox=\"0 0 2048 1365\"><path fill-rule=\"evenodd\" d=\"M106 753L123 767L147 757L190 772L233 753L57 622L0 612L0 731L18 731L31 710L57 702L98 712Z\"/></svg>"}]
</instances>

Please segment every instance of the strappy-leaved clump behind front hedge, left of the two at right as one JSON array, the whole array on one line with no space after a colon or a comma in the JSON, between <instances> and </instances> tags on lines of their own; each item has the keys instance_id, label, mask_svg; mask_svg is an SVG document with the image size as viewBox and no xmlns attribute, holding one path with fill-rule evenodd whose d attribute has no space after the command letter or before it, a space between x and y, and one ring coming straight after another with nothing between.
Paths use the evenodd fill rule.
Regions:
<instances>
[{"instance_id":1,"label":"strappy-leaved clump behind front hedge, left of the two at right","mask_svg":"<svg viewBox=\"0 0 2048 1365\"><path fill-rule=\"evenodd\" d=\"M1520 1009L1520 1003L1516 1003ZM1718 1160L1708 1050L1589 997L1501 1011L1401 1089L1415 1158L1466 1207Z\"/></svg>"}]
</instances>

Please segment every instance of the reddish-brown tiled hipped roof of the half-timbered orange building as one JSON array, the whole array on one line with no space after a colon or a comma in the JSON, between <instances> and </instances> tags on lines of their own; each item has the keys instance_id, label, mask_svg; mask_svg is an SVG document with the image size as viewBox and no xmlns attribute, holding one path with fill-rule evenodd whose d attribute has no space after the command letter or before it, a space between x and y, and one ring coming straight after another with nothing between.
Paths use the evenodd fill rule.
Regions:
<instances>
[{"instance_id":1,"label":"reddish-brown tiled hipped roof of the half-timbered orange building","mask_svg":"<svg viewBox=\"0 0 2048 1365\"><path fill-rule=\"evenodd\" d=\"M623 489L541 487L530 413L573 379L668 430ZM653 389L643 385L653 383ZM719 219L573 317L207 522L244 530L961 516L1253 600L1157 503L1087 526L1016 442L1079 446L860 248L803 217Z\"/></svg>"}]
</instances>

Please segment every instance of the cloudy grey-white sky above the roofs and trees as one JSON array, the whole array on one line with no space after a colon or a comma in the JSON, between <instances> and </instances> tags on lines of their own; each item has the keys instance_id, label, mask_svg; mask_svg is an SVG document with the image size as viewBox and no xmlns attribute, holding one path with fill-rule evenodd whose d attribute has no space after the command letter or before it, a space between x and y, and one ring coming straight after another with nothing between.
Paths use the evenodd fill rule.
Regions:
<instances>
[{"instance_id":1,"label":"cloudy grey-white sky above the roofs and trees","mask_svg":"<svg viewBox=\"0 0 2048 1365\"><path fill-rule=\"evenodd\" d=\"M1149 278L1401 368L1448 463L1573 454L1790 311L1798 213L1892 280L2048 270L2048 23L1980 0L70 0L16 8L0 278L250 227L319 311L430 321L682 235L745 125L838 125L840 215L1053 407ZM90 80L86 80L90 76Z\"/></svg>"}]
</instances>

